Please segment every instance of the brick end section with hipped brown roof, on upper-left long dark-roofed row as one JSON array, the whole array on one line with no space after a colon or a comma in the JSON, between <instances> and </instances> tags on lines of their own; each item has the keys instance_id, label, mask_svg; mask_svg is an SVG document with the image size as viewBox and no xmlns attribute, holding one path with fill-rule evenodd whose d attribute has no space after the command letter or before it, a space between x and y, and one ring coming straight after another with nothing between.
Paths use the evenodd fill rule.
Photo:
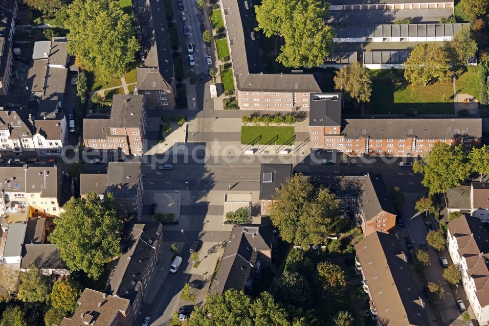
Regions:
<instances>
[{"instance_id":1,"label":"brick end section with hipped brown roof, on upper-left long dark-roofed row","mask_svg":"<svg viewBox=\"0 0 489 326\"><path fill-rule=\"evenodd\" d=\"M142 94L146 98L148 109L175 107L173 87L163 78L157 67L136 68L136 79L134 94Z\"/></svg>"}]
</instances>

